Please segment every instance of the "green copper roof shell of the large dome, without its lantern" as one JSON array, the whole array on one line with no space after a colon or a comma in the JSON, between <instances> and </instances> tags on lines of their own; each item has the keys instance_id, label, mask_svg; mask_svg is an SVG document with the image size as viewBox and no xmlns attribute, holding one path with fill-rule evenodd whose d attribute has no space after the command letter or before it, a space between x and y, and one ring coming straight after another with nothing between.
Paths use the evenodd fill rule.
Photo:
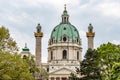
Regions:
<instances>
[{"instance_id":1,"label":"green copper roof shell of the large dome, without its lantern","mask_svg":"<svg viewBox=\"0 0 120 80\"><path fill-rule=\"evenodd\" d=\"M59 24L53 29L51 34L51 38L53 38L55 42L60 42L64 36L66 36L70 42L75 42L77 39L80 39L77 29L71 24Z\"/></svg>"}]
</instances>

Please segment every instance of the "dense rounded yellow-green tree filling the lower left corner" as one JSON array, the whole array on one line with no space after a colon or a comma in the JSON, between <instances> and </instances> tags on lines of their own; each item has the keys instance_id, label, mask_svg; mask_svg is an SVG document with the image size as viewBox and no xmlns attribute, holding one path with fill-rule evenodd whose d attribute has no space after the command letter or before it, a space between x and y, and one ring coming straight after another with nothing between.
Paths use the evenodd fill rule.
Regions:
<instances>
[{"instance_id":1,"label":"dense rounded yellow-green tree filling the lower left corner","mask_svg":"<svg viewBox=\"0 0 120 80\"><path fill-rule=\"evenodd\" d=\"M32 80L30 66L20 55L0 51L0 80Z\"/></svg>"}]
</instances>

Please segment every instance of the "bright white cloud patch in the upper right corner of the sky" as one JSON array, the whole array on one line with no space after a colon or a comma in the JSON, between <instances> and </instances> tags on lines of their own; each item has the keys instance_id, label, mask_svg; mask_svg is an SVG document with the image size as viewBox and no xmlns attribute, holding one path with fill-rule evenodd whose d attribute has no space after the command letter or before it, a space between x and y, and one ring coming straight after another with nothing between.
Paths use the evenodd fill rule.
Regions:
<instances>
[{"instance_id":1,"label":"bright white cloud patch in the upper right corner of the sky","mask_svg":"<svg viewBox=\"0 0 120 80\"><path fill-rule=\"evenodd\" d=\"M98 10L105 16L120 17L120 3L105 1L97 6Z\"/></svg>"}]
</instances>

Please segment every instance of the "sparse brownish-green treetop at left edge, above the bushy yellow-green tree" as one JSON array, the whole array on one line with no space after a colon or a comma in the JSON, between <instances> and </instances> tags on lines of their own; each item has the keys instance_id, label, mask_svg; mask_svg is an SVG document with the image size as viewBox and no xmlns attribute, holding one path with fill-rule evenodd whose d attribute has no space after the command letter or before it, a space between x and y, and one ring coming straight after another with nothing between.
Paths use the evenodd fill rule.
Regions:
<instances>
[{"instance_id":1,"label":"sparse brownish-green treetop at left edge, above the bushy yellow-green tree","mask_svg":"<svg viewBox=\"0 0 120 80\"><path fill-rule=\"evenodd\" d=\"M0 27L0 50L15 53L18 51L16 42L10 36L9 30L5 27Z\"/></svg>"}]
</instances>

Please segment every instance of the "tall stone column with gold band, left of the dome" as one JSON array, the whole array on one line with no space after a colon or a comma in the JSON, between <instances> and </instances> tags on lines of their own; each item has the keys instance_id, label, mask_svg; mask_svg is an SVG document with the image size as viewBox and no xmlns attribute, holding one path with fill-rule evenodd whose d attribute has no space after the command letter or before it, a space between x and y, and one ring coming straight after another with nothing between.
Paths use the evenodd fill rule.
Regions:
<instances>
[{"instance_id":1,"label":"tall stone column with gold band, left of the dome","mask_svg":"<svg viewBox=\"0 0 120 80\"><path fill-rule=\"evenodd\" d=\"M36 48L35 48L35 61L36 65L38 67L41 67L41 45L42 45L42 37L43 37L43 32L41 32L41 26L40 24L37 25L36 27L36 32L34 32L34 36L36 38Z\"/></svg>"}]
</instances>

